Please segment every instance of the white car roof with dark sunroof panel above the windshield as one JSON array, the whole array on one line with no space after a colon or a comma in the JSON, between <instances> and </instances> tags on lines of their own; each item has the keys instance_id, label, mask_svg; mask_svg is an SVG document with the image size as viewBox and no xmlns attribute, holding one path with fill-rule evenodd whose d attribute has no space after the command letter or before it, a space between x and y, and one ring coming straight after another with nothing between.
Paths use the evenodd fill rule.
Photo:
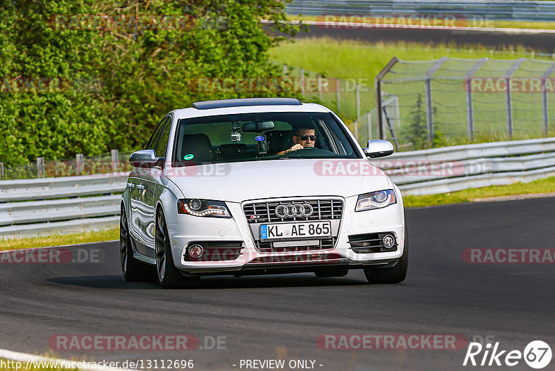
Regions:
<instances>
[{"instance_id":1,"label":"white car roof with dark sunroof panel above the windshield","mask_svg":"<svg viewBox=\"0 0 555 371\"><path fill-rule=\"evenodd\" d=\"M270 98L266 98L270 99ZM203 108L181 108L173 110L171 113L176 115L177 119L184 119L190 117L203 117L214 115L228 115L235 113L264 113L264 112L314 112L314 113L328 113L330 110L314 103L301 103L298 99L284 100L278 98L273 101L266 99L225 99L221 101L206 101L198 102L195 105ZM257 102L255 102L257 100ZM235 102L230 102L235 101ZM241 101L248 101L249 105L237 105ZM294 103L294 102L298 103ZM219 103L216 103L219 102ZM223 102L223 103L221 103ZM252 102L252 103L251 103ZM214 107L215 106L215 107ZM212 108L214 107L214 108Z\"/></svg>"}]
</instances>

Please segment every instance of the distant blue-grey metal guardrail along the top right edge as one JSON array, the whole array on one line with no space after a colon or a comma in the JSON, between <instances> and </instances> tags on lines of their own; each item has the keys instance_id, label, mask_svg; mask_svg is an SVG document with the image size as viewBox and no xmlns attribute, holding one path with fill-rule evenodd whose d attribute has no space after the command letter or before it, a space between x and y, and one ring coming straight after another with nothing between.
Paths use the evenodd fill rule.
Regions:
<instances>
[{"instance_id":1,"label":"distant blue-grey metal guardrail along the top right edge","mask_svg":"<svg viewBox=\"0 0 555 371\"><path fill-rule=\"evenodd\" d=\"M287 4L290 15L438 15L467 19L555 22L555 1L452 1L385 0L338 1L293 0Z\"/></svg>"}]
</instances>

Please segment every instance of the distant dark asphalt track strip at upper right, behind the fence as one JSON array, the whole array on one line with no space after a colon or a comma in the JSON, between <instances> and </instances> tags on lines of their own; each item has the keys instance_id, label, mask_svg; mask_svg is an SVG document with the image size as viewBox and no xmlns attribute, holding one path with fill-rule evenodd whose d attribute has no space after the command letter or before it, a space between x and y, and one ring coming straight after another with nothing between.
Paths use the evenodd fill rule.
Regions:
<instances>
[{"instance_id":1,"label":"distant dark asphalt track strip at upper right, behind the fence","mask_svg":"<svg viewBox=\"0 0 555 371\"><path fill-rule=\"evenodd\" d=\"M459 31L436 29L404 28L332 28L326 26L307 26L308 32L300 32L296 38L337 38L362 40L365 42L418 42L418 44L455 44L459 47L484 45L495 49L514 48L518 45L541 51L555 52L553 33L507 33L493 31Z\"/></svg>"}]
</instances>

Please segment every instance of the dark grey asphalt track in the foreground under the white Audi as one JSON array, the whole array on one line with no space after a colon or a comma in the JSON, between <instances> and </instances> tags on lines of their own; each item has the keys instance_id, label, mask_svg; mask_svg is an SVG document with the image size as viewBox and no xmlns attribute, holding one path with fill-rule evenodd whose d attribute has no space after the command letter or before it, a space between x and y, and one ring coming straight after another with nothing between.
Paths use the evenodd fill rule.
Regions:
<instances>
[{"instance_id":1,"label":"dark grey asphalt track in the foreground under the white Audi","mask_svg":"<svg viewBox=\"0 0 555 371\"><path fill-rule=\"evenodd\" d=\"M123 281L116 242L74 247L96 250L96 263L2 264L0 348L96 361L193 359L194 370L239 370L241 359L265 358L313 359L323 371L488 369L463 368L466 349L325 350L316 339L461 334L495 336L502 349L523 351L531 340L555 349L554 264L462 258L470 247L553 248L554 213L555 198L407 210L409 274L397 285L368 285L351 271L327 279L209 277L198 288L163 290ZM227 343L185 352L52 350L48 340L60 334L191 334L201 346L204 336ZM511 370L530 368L521 362Z\"/></svg>"}]
</instances>

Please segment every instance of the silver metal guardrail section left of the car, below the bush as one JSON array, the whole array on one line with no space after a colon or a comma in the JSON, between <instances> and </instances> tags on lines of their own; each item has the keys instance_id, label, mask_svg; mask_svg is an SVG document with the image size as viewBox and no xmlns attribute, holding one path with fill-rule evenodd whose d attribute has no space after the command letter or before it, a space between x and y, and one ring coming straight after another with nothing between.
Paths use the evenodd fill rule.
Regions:
<instances>
[{"instance_id":1,"label":"silver metal guardrail section left of the car, below the bush","mask_svg":"<svg viewBox=\"0 0 555 371\"><path fill-rule=\"evenodd\" d=\"M114 228L128 174L0 181L1 238Z\"/></svg>"}]
</instances>

